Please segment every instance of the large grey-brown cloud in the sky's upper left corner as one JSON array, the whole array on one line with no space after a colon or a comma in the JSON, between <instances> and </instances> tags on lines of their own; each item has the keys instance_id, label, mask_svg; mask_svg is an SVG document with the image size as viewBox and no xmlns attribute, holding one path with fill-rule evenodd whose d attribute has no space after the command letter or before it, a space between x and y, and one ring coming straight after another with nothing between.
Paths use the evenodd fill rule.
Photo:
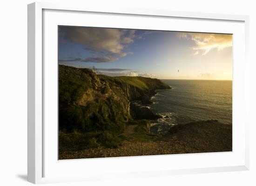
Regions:
<instances>
[{"instance_id":1,"label":"large grey-brown cloud in the sky's upper left corner","mask_svg":"<svg viewBox=\"0 0 256 186\"><path fill-rule=\"evenodd\" d=\"M95 52L124 57L131 53L123 49L134 42L135 30L61 26L60 36Z\"/></svg>"}]
</instances>

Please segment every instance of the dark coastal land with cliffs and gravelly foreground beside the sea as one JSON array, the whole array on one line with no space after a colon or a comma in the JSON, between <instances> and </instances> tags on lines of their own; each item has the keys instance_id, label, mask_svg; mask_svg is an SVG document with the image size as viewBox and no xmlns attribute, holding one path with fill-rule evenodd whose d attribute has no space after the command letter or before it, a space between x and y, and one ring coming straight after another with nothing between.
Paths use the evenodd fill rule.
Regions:
<instances>
[{"instance_id":1,"label":"dark coastal land with cliffs and gravelly foreground beside the sea","mask_svg":"<svg viewBox=\"0 0 256 186\"><path fill-rule=\"evenodd\" d=\"M216 120L152 133L150 122L161 116L141 105L159 89L170 87L159 79L59 65L59 159L232 150L232 126Z\"/></svg>"}]
</instances>

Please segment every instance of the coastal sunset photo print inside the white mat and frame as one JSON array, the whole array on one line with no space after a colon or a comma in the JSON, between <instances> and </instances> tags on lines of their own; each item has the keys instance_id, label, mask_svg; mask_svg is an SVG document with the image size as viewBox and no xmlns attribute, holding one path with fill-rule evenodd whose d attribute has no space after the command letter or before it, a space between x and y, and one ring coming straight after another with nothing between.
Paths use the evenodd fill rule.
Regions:
<instances>
[{"instance_id":1,"label":"coastal sunset photo print inside the white mat and frame","mask_svg":"<svg viewBox=\"0 0 256 186\"><path fill-rule=\"evenodd\" d=\"M58 26L59 160L232 151L232 34Z\"/></svg>"}]
</instances>

